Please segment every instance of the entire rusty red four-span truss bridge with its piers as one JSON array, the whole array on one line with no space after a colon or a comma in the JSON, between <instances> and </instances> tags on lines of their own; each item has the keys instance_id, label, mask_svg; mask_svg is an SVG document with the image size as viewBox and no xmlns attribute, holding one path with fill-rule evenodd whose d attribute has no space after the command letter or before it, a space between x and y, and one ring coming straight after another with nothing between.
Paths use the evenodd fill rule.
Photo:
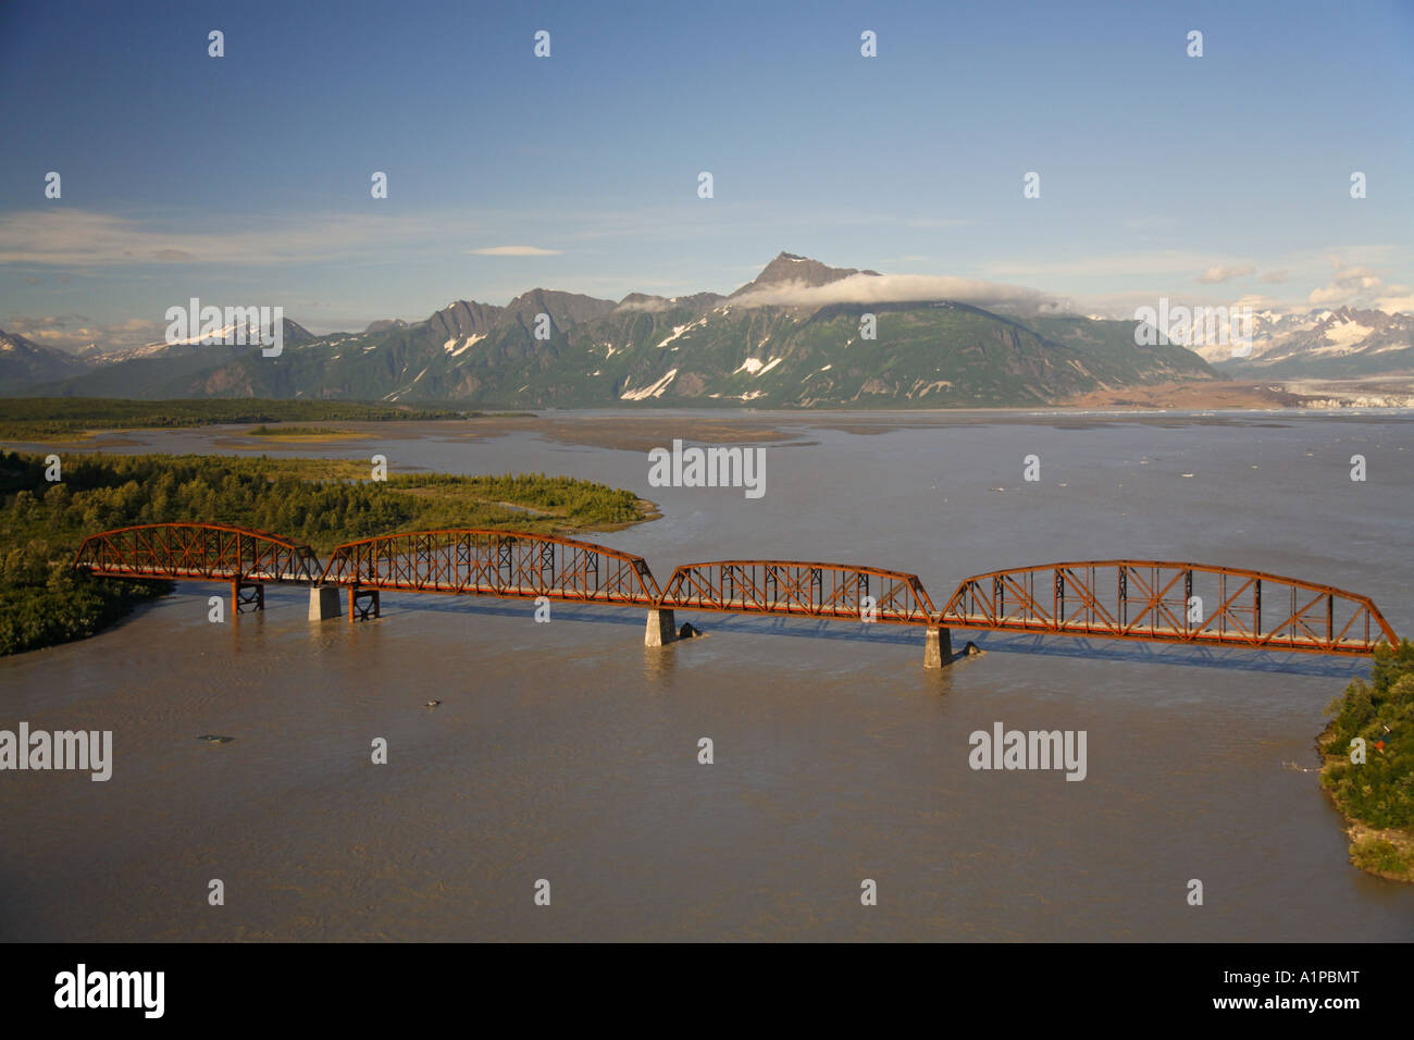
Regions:
<instances>
[{"instance_id":1,"label":"entire rusty red four-span truss bridge with its piers","mask_svg":"<svg viewBox=\"0 0 1414 1040\"><path fill-rule=\"evenodd\" d=\"M952 657L952 630L1141 640L1367 655L1397 645L1369 597L1240 567L1079 560L964 579L942 608L915 574L800 560L684 563L659 587L641 556L592 542L460 528L380 535L328 563L294 539L221 524L148 524L83 541L74 566L96 576L229 582L233 608L260 610L264 584L305 584L310 617L379 616L379 593L443 593L648 610L648 645L672 642L674 610L773 614L925 630L925 666Z\"/></svg>"}]
</instances>

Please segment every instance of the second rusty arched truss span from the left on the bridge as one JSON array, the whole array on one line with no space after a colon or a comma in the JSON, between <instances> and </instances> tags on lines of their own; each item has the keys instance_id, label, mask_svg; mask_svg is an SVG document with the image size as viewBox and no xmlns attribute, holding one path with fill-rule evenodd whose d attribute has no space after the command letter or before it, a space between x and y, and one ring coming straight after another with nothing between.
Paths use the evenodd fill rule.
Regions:
<instances>
[{"instance_id":1,"label":"second rusty arched truss span from the left on the bridge","mask_svg":"<svg viewBox=\"0 0 1414 1040\"><path fill-rule=\"evenodd\" d=\"M361 589L652 606L641 556L519 531L457 528L380 535L338 546L324 582Z\"/></svg>"}]
</instances>

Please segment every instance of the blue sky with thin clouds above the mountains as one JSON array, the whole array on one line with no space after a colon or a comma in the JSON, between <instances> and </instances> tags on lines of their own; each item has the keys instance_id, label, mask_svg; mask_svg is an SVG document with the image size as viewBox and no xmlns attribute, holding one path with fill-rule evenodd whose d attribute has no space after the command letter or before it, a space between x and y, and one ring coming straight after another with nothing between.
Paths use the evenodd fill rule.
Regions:
<instances>
[{"instance_id":1,"label":"blue sky with thin clouds above the mountains","mask_svg":"<svg viewBox=\"0 0 1414 1040\"><path fill-rule=\"evenodd\" d=\"M1408 0L7 3L0 327L730 291L782 249L1080 313L1414 310L1411 58Z\"/></svg>"}]
</instances>

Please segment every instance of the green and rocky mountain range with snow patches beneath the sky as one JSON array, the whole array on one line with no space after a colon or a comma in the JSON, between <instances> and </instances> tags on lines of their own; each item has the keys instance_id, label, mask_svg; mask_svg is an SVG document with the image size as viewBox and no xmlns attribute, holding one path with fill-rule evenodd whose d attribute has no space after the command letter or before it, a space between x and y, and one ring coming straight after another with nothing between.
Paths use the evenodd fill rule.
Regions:
<instances>
[{"instance_id":1,"label":"green and rocky mountain range with snow patches beneath the sky","mask_svg":"<svg viewBox=\"0 0 1414 1040\"><path fill-rule=\"evenodd\" d=\"M1232 366L1229 348L1210 354L1210 365L1203 347L1137 345L1133 320L1022 317L954 300L800 301L810 296L802 290L846 279L867 296L874 277L882 276L781 253L728 296L632 293L614 301L533 289L506 306L457 300L423 321L382 320L329 335L286 320L276 358L259 347L191 342L74 355L0 334L0 393L491 408L976 408L1212 381L1222 378L1213 365ZM1275 372L1298 364L1304 342L1316 344L1307 354L1319 364L1414 364L1407 316L1322 314L1258 323L1267 340L1258 333L1258 349L1243 364ZM1367 342L1370 335L1381 345ZM1350 349L1326 349L1332 342Z\"/></svg>"}]
</instances>

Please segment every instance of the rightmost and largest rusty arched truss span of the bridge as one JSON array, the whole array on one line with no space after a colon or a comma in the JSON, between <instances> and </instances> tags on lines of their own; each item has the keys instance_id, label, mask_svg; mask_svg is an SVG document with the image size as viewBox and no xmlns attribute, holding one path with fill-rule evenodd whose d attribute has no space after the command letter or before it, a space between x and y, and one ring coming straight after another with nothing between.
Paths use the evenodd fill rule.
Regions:
<instances>
[{"instance_id":1,"label":"rightmost and largest rusty arched truss span of the bridge","mask_svg":"<svg viewBox=\"0 0 1414 1040\"><path fill-rule=\"evenodd\" d=\"M977 574L939 623L1056 635L1370 654L1397 645L1365 596L1258 570L1159 560L1046 563Z\"/></svg>"}]
</instances>

